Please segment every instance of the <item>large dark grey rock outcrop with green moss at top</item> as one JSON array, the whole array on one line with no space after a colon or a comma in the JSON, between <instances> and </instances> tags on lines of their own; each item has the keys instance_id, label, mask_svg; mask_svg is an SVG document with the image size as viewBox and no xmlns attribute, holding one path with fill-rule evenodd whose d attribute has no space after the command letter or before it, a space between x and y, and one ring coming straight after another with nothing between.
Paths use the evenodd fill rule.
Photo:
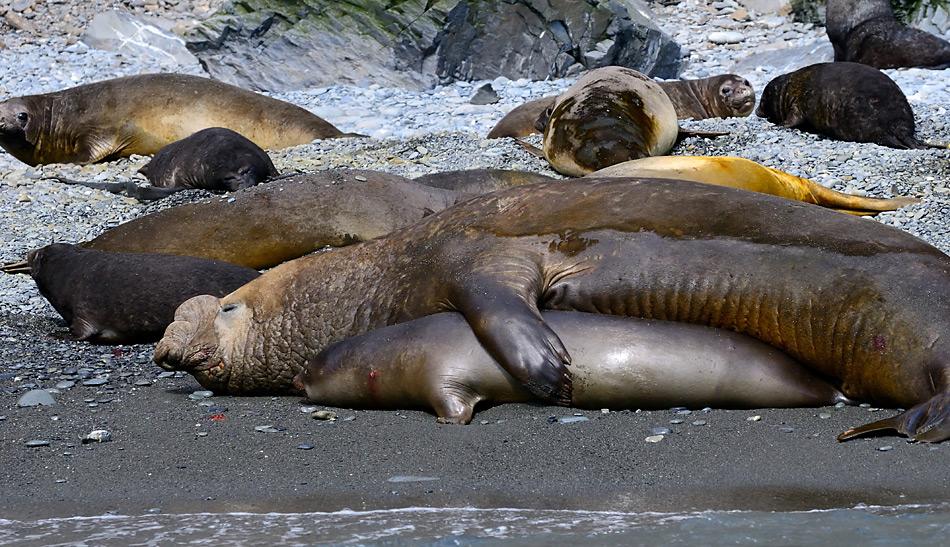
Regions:
<instances>
[{"instance_id":1,"label":"large dark grey rock outcrop with green moss at top","mask_svg":"<svg viewBox=\"0 0 950 547\"><path fill-rule=\"evenodd\" d=\"M260 91L544 79L618 64L673 78L680 48L640 0L230 0L187 37L214 78Z\"/></svg>"}]
</instances>

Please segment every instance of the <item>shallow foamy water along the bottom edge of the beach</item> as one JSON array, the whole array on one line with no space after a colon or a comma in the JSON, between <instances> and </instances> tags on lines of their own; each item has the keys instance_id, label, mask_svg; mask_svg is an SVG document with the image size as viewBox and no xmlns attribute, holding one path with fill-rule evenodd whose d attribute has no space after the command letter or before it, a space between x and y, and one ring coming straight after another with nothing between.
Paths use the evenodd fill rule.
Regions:
<instances>
[{"instance_id":1,"label":"shallow foamy water along the bottom edge of the beach","mask_svg":"<svg viewBox=\"0 0 950 547\"><path fill-rule=\"evenodd\" d=\"M799 512L407 508L0 519L0 545L940 545L950 503Z\"/></svg>"}]
</instances>

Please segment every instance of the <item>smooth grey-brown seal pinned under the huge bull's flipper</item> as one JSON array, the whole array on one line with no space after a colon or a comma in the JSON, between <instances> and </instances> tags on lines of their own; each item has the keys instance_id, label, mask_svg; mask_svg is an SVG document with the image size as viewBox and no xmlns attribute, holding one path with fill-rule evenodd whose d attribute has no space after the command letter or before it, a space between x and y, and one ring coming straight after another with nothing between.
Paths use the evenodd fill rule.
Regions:
<instances>
[{"instance_id":1,"label":"smooth grey-brown seal pinned under the huge bull's flipper","mask_svg":"<svg viewBox=\"0 0 950 547\"><path fill-rule=\"evenodd\" d=\"M590 313L541 316L571 353L573 407L762 408L846 400L782 352L742 334ZM294 387L320 404L428 408L439 422L455 424L469 423L482 402L536 401L457 313L333 344L294 377Z\"/></svg>"}]
</instances>

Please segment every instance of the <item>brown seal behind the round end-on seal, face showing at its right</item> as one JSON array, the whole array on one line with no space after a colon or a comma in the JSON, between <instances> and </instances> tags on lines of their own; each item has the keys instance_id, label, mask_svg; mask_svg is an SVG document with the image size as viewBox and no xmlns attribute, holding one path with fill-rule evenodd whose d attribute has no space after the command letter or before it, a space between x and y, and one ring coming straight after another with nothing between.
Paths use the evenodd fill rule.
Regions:
<instances>
[{"instance_id":1,"label":"brown seal behind the round end-on seal, face showing at its right","mask_svg":"<svg viewBox=\"0 0 950 547\"><path fill-rule=\"evenodd\" d=\"M673 103L676 117L681 120L744 117L755 109L752 84L736 74L656 83L666 92ZM495 124L488 138L526 137L544 132L545 122L550 115L544 114L554 106L556 99L557 95L542 97L516 107Z\"/></svg>"}]
</instances>

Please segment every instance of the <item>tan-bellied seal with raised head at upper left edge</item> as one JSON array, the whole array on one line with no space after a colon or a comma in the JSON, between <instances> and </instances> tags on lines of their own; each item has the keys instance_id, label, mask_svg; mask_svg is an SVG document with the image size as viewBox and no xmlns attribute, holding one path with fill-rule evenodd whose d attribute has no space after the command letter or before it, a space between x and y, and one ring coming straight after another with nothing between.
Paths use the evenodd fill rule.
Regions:
<instances>
[{"instance_id":1,"label":"tan-bellied seal with raised head at upper left edge","mask_svg":"<svg viewBox=\"0 0 950 547\"><path fill-rule=\"evenodd\" d=\"M299 106L187 74L143 74L0 102L0 146L29 165L152 155L208 127L261 148L346 136Z\"/></svg>"}]
</instances>

